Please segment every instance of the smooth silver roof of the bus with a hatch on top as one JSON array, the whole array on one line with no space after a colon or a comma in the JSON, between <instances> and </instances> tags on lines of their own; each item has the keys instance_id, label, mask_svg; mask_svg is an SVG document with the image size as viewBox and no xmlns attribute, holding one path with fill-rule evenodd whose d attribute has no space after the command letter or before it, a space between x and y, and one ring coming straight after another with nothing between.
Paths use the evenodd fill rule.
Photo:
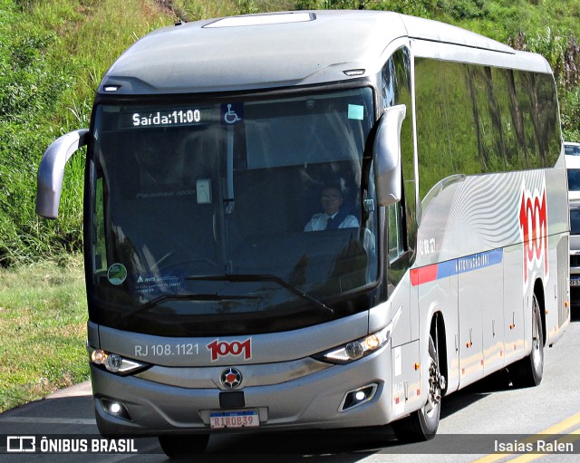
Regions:
<instances>
[{"instance_id":1,"label":"smooth silver roof of the bus with a hatch on top","mask_svg":"<svg viewBox=\"0 0 580 463\"><path fill-rule=\"evenodd\" d=\"M391 12L251 14L179 23L145 35L113 63L99 92L224 92L339 82L378 72L387 46L401 37L512 59L519 53L459 27Z\"/></svg>"}]
</instances>

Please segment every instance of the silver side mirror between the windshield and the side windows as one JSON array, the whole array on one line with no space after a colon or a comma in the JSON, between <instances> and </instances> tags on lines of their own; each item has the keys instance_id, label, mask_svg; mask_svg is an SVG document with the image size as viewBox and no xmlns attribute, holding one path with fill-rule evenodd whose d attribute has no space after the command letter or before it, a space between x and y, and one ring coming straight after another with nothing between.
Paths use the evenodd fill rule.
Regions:
<instances>
[{"instance_id":1,"label":"silver side mirror between the windshield and the side windows","mask_svg":"<svg viewBox=\"0 0 580 463\"><path fill-rule=\"evenodd\" d=\"M401 126L407 109L404 104L387 108L379 121L372 155L379 206L401 200Z\"/></svg>"}]
</instances>

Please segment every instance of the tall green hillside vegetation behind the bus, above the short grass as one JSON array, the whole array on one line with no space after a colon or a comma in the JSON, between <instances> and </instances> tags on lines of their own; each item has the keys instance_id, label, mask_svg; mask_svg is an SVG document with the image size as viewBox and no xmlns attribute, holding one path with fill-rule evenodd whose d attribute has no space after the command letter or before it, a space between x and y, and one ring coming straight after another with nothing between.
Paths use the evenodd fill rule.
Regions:
<instances>
[{"instance_id":1,"label":"tall green hillside vegetation behind the bus, above the short grass","mask_svg":"<svg viewBox=\"0 0 580 463\"><path fill-rule=\"evenodd\" d=\"M580 0L0 0L0 265L82 248L82 156L67 166L58 221L36 217L36 169L59 135L87 127L102 74L176 19L348 8L414 14L542 53L566 140L580 140Z\"/></svg>"}]
</instances>

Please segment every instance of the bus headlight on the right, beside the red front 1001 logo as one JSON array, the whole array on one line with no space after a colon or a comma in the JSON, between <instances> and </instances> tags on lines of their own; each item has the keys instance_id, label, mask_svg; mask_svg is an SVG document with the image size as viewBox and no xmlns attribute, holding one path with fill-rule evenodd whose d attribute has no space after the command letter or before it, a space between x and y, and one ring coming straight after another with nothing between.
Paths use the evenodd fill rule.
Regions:
<instances>
[{"instance_id":1,"label":"bus headlight on the right, beside the red front 1001 logo","mask_svg":"<svg viewBox=\"0 0 580 463\"><path fill-rule=\"evenodd\" d=\"M392 330L399 321L400 316L401 307L397 313L394 314L391 322L381 331L369 334L362 339L348 342L342 346L335 347L330 351L322 352L321 354L316 355L316 358L324 362L337 363L340 365L362 359L363 357L372 354L372 352L386 346L391 341Z\"/></svg>"}]
</instances>

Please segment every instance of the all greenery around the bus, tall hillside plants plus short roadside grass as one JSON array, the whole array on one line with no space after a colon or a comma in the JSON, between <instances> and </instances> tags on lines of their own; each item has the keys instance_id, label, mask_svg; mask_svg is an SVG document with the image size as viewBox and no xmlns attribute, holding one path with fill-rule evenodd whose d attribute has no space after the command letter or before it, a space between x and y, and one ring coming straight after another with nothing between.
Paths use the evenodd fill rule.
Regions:
<instances>
[{"instance_id":1,"label":"all greenery around the bus, tall hillside plants plus short roadside grass","mask_svg":"<svg viewBox=\"0 0 580 463\"><path fill-rule=\"evenodd\" d=\"M43 150L88 127L102 74L150 30L303 8L415 14L542 53L565 139L580 140L580 0L0 0L0 410L87 375L82 265L67 257L82 251L83 159L67 168L60 219L47 221L34 213Z\"/></svg>"}]
</instances>

